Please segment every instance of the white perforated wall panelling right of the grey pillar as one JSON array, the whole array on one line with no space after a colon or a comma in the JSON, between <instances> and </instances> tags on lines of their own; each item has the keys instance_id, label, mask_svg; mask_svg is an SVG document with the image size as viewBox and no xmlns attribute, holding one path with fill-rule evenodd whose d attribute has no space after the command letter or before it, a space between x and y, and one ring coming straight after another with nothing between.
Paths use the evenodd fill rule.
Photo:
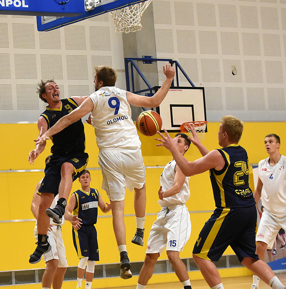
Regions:
<instances>
[{"instance_id":1,"label":"white perforated wall panelling right of the grey pillar","mask_svg":"<svg viewBox=\"0 0 286 289\"><path fill-rule=\"evenodd\" d=\"M286 0L166 0L165 19L162 2L153 0L157 57L205 87L208 121L285 121Z\"/></svg>"}]
</instances>

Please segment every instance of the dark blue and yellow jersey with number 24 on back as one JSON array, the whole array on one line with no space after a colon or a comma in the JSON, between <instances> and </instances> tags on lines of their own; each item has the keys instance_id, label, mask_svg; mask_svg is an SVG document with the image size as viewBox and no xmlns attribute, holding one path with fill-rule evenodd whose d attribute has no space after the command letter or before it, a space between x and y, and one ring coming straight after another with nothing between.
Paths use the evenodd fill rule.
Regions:
<instances>
[{"instance_id":1,"label":"dark blue and yellow jersey with number 24 on back","mask_svg":"<svg viewBox=\"0 0 286 289\"><path fill-rule=\"evenodd\" d=\"M246 208L255 205L249 188L249 163L246 150L239 144L218 149L225 160L222 170L210 170L217 208Z\"/></svg>"}]
</instances>

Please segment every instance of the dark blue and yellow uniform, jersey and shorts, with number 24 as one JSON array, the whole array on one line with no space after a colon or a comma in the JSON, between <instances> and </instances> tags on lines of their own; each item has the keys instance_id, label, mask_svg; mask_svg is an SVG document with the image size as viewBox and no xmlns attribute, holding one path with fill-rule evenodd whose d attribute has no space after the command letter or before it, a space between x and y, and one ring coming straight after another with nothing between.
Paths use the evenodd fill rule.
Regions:
<instances>
[{"instance_id":1,"label":"dark blue and yellow uniform, jersey and shorts, with number 24","mask_svg":"<svg viewBox=\"0 0 286 289\"><path fill-rule=\"evenodd\" d=\"M225 160L222 170L210 170L216 209L201 230L193 254L218 261L230 245L241 262L255 254L257 212L249 188L247 153L238 144L218 150Z\"/></svg>"}]
</instances>

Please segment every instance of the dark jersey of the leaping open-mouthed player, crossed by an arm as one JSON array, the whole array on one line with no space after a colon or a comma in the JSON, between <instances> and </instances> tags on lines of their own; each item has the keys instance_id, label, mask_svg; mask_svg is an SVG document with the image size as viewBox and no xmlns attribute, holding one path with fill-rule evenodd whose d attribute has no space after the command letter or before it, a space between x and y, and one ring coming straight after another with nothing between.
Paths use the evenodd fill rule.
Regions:
<instances>
[{"instance_id":1,"label":"dark jersey of the leaping open-mouthed player, crossed by an arm","mask_svg":"<svg viewBox=\"0 0 286 289\"><path fill-rule=\"evenodd\" d=\"M48 129L60 118L76 109L78 104L72 98L61 100L59 109L47 109L41 114L47 121ZM50 137L52 140L51 153L53 155L77 154L85 151L85 134L81 119L70 124L61 132Z\"/></svg>"}]
</instances>

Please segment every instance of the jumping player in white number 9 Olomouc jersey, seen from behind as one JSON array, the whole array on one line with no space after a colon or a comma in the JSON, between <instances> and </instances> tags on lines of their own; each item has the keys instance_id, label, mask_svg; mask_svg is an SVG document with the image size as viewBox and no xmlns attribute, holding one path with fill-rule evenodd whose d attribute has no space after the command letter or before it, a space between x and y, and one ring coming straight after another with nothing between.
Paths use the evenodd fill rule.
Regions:
<instances>
[{"instance_id":1,"label":"jumping player in white number 9 Olomouc jersey, seen from behind","mask_svg":"<svg viewBox=\"0 0 286 289\"><path fill-rule=\"evenodd\" d=\"M36 144L49 139L69 124L91 112L99 147L99 165L102 169L102 188L106 191L112 208L113 229L120 253L121 269L130 269L126 250L124 225L124 196L126 187L134 189L134 210L137 230L132 242L143 246L146 207L145 168L141 154L141 142L131 119L130 105L156 107L167 95L175 70L167 63L163 67L166 76L161 88L151 97L141 96L116 88L116 71L108 66L96 67L95 92L77 109L62 117L45 132Z\"/></svg>"}]
</instances>

